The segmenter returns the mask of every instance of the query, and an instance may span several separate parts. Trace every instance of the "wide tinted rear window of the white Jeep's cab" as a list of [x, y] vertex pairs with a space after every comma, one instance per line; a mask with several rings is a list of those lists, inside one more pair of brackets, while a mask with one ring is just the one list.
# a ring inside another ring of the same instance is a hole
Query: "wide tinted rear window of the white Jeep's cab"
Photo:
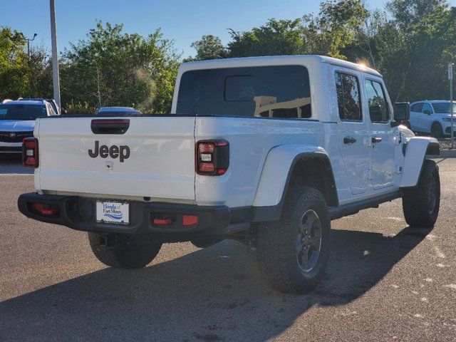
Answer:
[[304, 66], [259, 66], [187, 71], [177, 114], [310, 118], [309, 73]]

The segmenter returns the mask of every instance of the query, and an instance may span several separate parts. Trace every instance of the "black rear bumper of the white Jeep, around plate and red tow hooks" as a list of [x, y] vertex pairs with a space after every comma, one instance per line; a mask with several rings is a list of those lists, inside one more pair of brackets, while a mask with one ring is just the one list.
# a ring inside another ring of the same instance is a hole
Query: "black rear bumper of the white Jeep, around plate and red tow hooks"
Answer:
[[[36, 192], [23, 194], [18, 199], [22, 214], [41, 222], [61, 224], [83, 232], [141, 234], [157, 233], [177, 236], [185, 241], [197, 236], [212, 236], [242, 231], [249, 228], [248, 222], [233, 223], [229, 207], [198, 206], [193, 204], [169, 204], [129, 201], [130, 224], [107, 224], [96, 221], [95, 198], [78, 196], [38, 195]], [[58, 207], [60, 213], [51, 216], [33, 211], [32, 203], [50, 204]], [[174, 217], [169, 225], [153, 223], [156, 215]], [[182, 226], [182, 214], [197, 215], [198, 222], [192, 226]], [[181, 223], [179, 223], [181, 222]]]

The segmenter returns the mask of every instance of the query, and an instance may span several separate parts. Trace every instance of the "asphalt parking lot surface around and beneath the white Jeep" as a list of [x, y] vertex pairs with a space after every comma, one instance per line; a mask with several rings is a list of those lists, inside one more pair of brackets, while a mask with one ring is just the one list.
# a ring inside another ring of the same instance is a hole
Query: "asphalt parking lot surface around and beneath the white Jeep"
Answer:
[[436, 160], [432, 231], [401, 200], [333, 222], [316, 291], [279, 294], [225, 241], [166, 244], [146, 269], [93, 257], [86, 234], [19, 214], [33, 175], [0, 160], [0, 341], [456, 341], [456, 159]]

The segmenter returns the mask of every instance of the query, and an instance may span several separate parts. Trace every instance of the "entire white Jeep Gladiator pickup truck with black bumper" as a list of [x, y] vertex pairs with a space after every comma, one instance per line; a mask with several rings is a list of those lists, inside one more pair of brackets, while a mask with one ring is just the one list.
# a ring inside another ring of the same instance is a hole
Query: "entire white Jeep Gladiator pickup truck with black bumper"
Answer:
[[139, 268], [163, 243], [255, 247], [271, 286], [305, 293], [331, 219], [402, 198], [411, 227], [440, 205], [437, 140], [401, 125], [377, 71], [321, 56], [184, 63], [172, 114], [36, 120], [27, 217], [88, 232], [95, 256]]

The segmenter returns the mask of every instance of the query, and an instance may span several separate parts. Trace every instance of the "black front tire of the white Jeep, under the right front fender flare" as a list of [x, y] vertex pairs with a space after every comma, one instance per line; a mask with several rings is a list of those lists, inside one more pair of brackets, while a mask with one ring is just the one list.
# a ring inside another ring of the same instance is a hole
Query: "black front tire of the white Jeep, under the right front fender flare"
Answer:
[[[435, 201], [432, 201], [432, 182], [435, 184]], [[434, 202], [432, 205], [431, 202]], [[402, 205], [405, 222], [410, 227], [431, 228], [440, 209], [440, 177], [439, 169], [433, 160], [425, 160], [418, 185], [405, 190]]]

